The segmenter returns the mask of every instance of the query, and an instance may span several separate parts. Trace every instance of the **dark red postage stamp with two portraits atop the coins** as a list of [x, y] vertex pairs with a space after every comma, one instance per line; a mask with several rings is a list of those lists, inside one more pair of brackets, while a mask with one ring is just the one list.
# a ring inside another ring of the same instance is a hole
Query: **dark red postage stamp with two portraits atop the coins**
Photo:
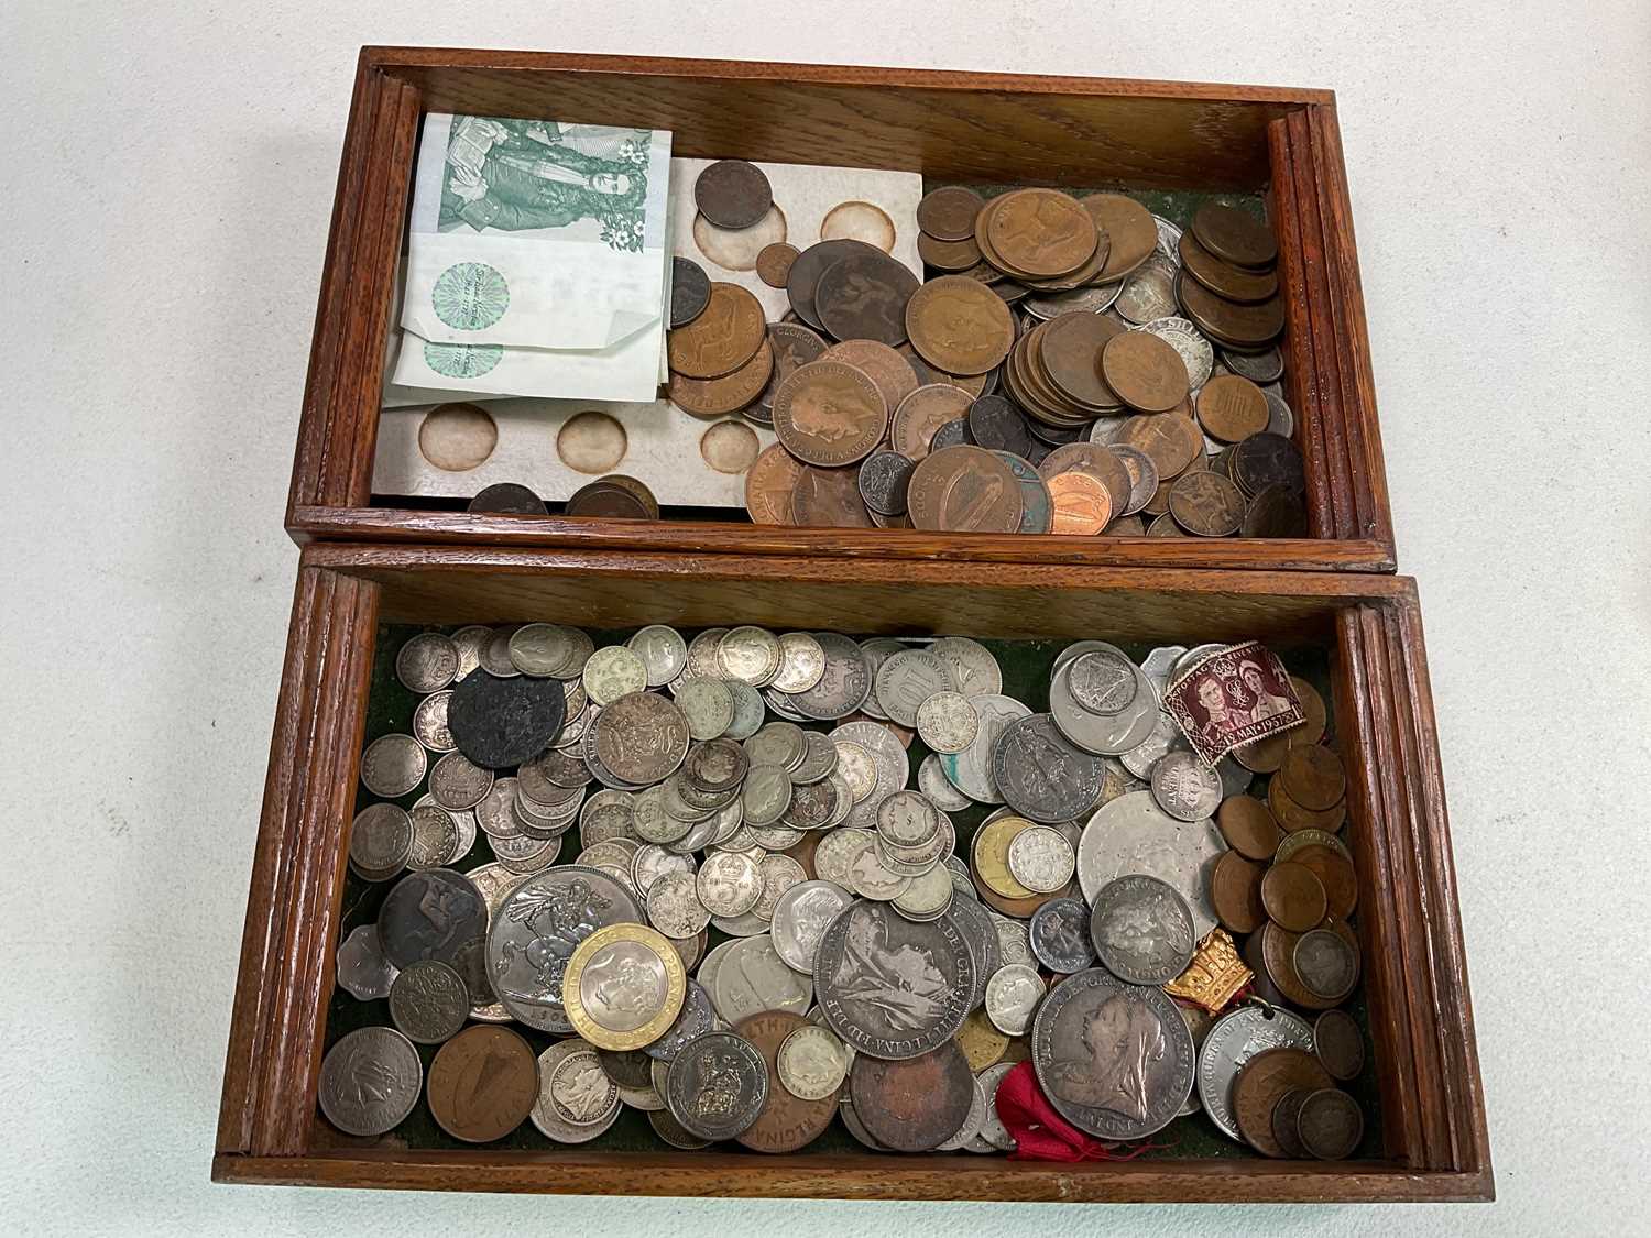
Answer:
[[1207, 766], [1306, 721], [1284, 664], [1260, 640], [1210, 654], [1169, 685], [1164, 708]]

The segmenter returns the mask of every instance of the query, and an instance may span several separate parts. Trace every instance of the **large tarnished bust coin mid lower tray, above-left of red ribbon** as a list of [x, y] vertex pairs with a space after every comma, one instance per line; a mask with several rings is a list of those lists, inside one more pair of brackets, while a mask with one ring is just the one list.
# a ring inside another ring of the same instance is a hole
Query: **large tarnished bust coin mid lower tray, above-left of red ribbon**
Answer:
[[915, 923], [887, 903], [859, 901], [830, 923], [814, 957], [821, 1014], [873, 1058], [913, 1058], [949, 1042], [974, 987], [974, 956], [951, 913]]

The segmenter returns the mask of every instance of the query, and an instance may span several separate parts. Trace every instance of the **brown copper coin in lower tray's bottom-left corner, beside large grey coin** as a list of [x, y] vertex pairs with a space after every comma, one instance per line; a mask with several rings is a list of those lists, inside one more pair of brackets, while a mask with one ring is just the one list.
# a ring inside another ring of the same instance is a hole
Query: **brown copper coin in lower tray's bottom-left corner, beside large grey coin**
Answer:
[[436, 1051], [428, 1096], [431, 1118], [454, 1139], [504, 1139], [533, 1111], [538, 1058], [507, 1027], [467, 1027]]

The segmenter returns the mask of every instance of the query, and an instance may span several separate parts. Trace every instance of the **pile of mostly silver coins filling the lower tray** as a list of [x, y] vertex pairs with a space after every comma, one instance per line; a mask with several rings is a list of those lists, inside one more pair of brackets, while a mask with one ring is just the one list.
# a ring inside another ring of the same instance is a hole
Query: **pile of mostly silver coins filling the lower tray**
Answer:
[[[1030, 1061], [1100, 1139], [1202, 1108], [1270, 1155], [1351, 1155], [1346, 776], [1304, 680], [1308, 725], [1199, 763], [1161, 697], [1220, 649], [1075, 642], [1034, 711], [956, 636], [411, 636], [409, 733], [363, 751], [348, 840], [388, 888], [337, 959], [390, 1025], [332, 1045], [322, 1113], [376, 1136], [423, 1093], [472, 1142], [584, 1142], [631, 1108], [680, 1149], [789, 1152], [835, 1118], [994, 1152]], [[1233, 1005], [1228, 929], [1268, 1000]]]

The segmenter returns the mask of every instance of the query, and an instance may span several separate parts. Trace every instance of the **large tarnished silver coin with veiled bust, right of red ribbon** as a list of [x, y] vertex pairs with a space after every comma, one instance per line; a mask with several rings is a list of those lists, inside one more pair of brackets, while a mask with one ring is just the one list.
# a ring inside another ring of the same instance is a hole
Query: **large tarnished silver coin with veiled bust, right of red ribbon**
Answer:
[[1032, 1023], [1038, 1086], [1068, 1122], [1098, 1139], [1144, 1139], [1192, 1094], [1192, 1032], [1161, 989], [1101, 967], [1057, 984]]

